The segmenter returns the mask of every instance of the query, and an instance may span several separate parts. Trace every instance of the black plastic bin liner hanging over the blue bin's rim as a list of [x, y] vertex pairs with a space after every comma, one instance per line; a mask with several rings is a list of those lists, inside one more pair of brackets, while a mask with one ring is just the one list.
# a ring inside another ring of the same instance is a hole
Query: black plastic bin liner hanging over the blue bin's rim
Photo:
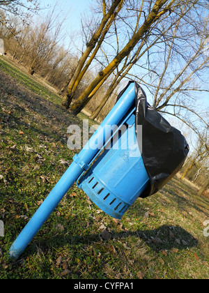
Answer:
[[[127, 84], [129, 87], [130, 81]], [[142, 158], [150, 186], [140, 197], [146, 198], [162, 189], [183, 167], [189, 153], [189, 145], [180, 131], [153, 109], [144, 90], [134, 82], [136, 91], [136, 125], [142, 126]], [[118, 95], [121, 98], [123, 89]], [[137, 129], [137, 128], [136, 128]]]

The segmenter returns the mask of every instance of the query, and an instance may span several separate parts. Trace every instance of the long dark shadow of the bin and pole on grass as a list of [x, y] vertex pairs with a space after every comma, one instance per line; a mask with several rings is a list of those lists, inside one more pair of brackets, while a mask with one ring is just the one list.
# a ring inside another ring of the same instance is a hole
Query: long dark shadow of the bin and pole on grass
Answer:
[[[72, 246], [77, 246], [77, 244], [91, 245], [93, 243], [109, 243], [109, 241], [117, 241], [117, 239], [127, 239], [130, 237], [136, 237], [144, 241], [152, 250], [159, 252], [161, 250], [171, 250], [172, 248], [177, 248], [178, 250], [183, 250], [185, 248], [192, 248], [197, 246], [198, 241], [189, 234], [182, 227], [176, 227], [173, 225], [162, 225], [155, 230], [137, 230], [132, 231], [121, 231], [121, 232], [108, 232], [109, 239], [102, 239], [102, 233], [99, 234], [89, 234], [84, 236], [64, 236], [61, 240], [61, 235], [55, 236], [53, 238], [47, 239], [47, 241], [38, 241], [38, 246], [42, 249], [49, 249], [50, 247], [60, 247], [65, 246], [65, 244], [70, 244]], [[47, 246], [47, 247], [46, 247]]]

